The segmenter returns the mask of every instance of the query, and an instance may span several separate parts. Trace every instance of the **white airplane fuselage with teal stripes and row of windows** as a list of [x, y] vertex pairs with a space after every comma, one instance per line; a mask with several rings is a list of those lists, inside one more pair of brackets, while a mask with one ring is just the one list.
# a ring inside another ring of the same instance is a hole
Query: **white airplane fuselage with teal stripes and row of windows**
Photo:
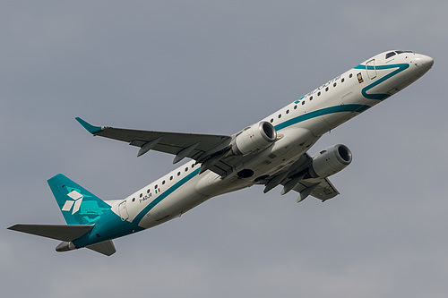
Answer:
[[[383, 99], [418, 80], [432, 65], [425, 55], [402, 53], [386, 59], [376, 55], [363, 64], [342, 73], [306, 96], [265, 117], [279, 140], [238, 165], [232, 174], [221, 178], [210, 170], [199, 175], [195, 161], [179, 166], [141, 190], [134, 192], [112, 210], [122, 220], [149, 228], [178, 217], [211, 197], [254, 185], [262, 175], [274, 175], [294, 163], [325, 132], [375, 106]], [[251, 169], [254, 175], [242, 178], [239, 169]], [[148, 210], [148, 212], [142, 212]]]

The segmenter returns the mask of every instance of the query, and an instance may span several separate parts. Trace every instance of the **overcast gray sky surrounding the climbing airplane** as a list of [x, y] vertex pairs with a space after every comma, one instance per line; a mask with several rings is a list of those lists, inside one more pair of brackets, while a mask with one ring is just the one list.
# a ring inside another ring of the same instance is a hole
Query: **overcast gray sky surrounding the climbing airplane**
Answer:
[[[442, 1], [4, 1], [0, 296], [446, 297]], [[353, 163], [324, 204], [252, 187], [116, 240], [107, 258], [6, 230], [64, 224], [47, 179], [124, 198], [172, 157], [92, 138], [116, 127], [231, 134], [389, 49], [433, 70], [323, 136]]]

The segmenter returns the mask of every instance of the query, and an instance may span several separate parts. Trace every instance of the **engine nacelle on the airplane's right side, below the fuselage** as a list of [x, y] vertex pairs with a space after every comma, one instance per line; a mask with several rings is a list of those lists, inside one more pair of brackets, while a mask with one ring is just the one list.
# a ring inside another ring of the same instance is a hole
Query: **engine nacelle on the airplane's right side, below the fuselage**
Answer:
[[314, 155], [309, 174], [313, 178], [326, 178], [349, 166], [351, 159], [351, 151], [347, 146], [334, 145]]

